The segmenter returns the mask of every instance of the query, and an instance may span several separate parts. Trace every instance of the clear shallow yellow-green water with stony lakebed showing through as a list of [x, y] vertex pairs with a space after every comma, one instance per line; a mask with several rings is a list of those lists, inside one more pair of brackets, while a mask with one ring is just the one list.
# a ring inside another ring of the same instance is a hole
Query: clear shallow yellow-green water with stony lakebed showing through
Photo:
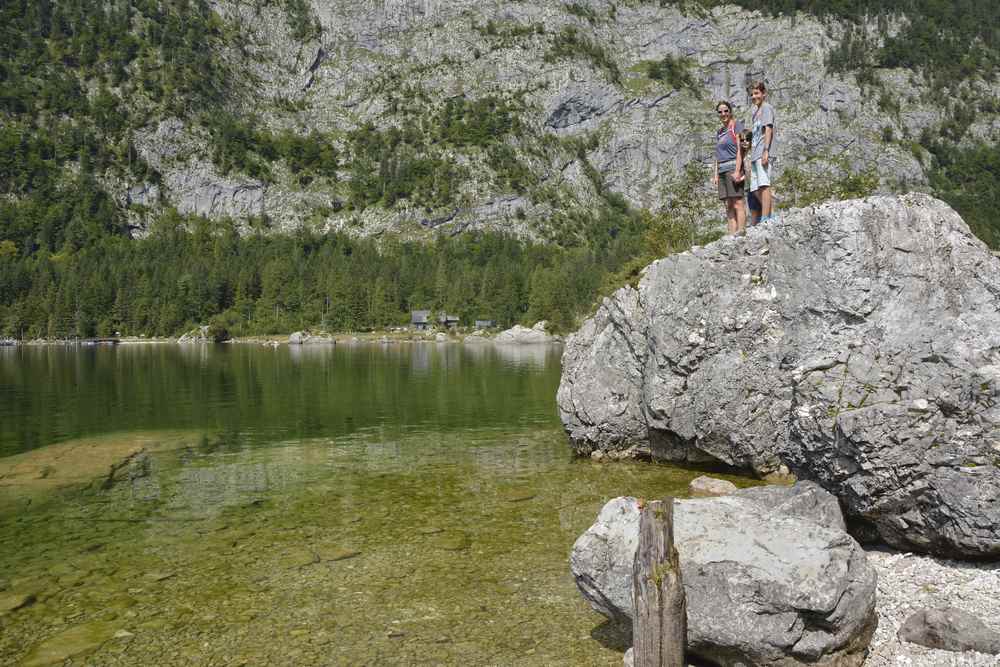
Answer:
[[229, 444], [4, 505], [0, 588], [31, 602], [0, 662], [617, 665], [569, 549], [608, 499], [698, 474], [573, 460], [558, 428]]

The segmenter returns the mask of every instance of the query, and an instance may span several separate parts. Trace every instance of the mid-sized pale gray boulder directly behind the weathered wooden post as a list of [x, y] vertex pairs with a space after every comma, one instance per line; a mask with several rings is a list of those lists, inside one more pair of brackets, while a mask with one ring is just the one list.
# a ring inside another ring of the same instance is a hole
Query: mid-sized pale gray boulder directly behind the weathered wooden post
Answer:
[[[875, 628], [875, 571], [812, 500], [780, 487], [786, 513], [747, 491], [676, 501], [674, 537], [688, 609], [688, 651], [718, 665], [860, 665]], [[842, 525], [842, 523], [841, 523]], [[616, 498], [573, 545], [573, 575], [598, 612], [631, 625], [638, 545], [634, 498]]]

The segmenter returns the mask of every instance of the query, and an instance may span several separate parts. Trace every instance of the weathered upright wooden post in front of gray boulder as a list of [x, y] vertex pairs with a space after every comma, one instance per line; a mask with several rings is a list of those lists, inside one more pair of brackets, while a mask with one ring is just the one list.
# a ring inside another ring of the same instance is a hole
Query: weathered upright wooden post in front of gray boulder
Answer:
[[648, 503], [639, 518], [632, 571], [635, 667], [684, 667], [687, 604], [674, 548], [674, 499]]

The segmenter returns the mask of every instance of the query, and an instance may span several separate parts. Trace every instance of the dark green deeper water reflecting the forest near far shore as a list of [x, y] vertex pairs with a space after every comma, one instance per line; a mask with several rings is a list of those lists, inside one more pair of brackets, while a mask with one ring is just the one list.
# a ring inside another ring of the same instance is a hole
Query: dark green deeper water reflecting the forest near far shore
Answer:
[[4, 348], [0, 456], [89, 434], [238, 432], [248, 446], [555, 424], [556, 345], [354, 343]]

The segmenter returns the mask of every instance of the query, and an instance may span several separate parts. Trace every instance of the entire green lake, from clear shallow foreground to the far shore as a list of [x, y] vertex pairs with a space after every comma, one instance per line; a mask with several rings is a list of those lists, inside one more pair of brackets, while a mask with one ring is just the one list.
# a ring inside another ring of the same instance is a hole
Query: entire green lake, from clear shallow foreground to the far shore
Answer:
[[621, 664], [569, 549], [697, 473], [573, 460], [560, 354], [3, 352], [0, 663]]

